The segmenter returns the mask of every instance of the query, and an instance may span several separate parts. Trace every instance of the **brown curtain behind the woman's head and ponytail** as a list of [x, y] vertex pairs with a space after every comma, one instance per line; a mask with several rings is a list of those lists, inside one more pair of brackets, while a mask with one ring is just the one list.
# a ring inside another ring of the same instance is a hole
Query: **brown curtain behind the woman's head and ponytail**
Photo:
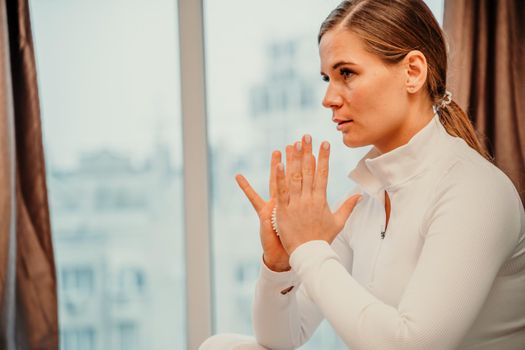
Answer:
[[525, 1], [445, 0], [448, 86], [525, 203]]

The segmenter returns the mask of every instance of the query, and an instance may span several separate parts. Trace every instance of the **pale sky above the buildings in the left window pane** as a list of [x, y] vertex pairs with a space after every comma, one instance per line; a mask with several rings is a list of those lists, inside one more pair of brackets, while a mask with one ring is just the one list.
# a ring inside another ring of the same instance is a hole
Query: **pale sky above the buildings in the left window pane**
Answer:
[[157, 136], [178, 146], [173, 1], [33, 0], [31, 10], [53, 164], [70, 166], [100, 148], [141, 159]]

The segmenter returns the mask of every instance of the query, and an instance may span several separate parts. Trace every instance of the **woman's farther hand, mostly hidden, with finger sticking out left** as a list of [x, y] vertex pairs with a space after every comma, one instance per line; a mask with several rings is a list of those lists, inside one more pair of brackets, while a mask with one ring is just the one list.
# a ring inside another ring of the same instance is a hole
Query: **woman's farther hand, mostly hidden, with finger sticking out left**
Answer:
[[[286, 148], [287, 154], [289, 153], [288, 146]], [[263, 248], [263, 260], [269, 269], [276, 272], [283, 272], [290, 270], [289, 256], [283, 248], [279, 236], [275, 234], [272, 228], [272, 210], [277, 203], [277, 183], [276, 176], [274, 174], [276, 165], [281, 162], [281, 152], [274, 151], [272, 153], [272, 160], [270, 164], [270, 199], [265, 201], [259, 196], [257, 192], [252, 188], [248, 180], [242, 175], [235, 176], [235, 180], [239, 184], [253, 208], [259, 216], [259, 235], [261, 239], [261, 245]]]

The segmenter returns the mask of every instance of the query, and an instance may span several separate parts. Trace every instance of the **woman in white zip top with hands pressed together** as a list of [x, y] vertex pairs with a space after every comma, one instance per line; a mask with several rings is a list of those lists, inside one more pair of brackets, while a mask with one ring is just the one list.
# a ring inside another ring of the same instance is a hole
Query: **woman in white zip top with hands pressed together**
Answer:
[[319, 50], [344, 144], [374, 145], [350, 173], [356, 194], [329, 210], [329, 145], [316, 163], [308, 135], [286, 169], [274, 152], [269, 201], [237, 177], [261, 222], [256, 340], [202, 349], [293, 349], [323, 318], [353, 350], [525, 349], [523, 205], [446, 90], [430, 10], [343, 1]]

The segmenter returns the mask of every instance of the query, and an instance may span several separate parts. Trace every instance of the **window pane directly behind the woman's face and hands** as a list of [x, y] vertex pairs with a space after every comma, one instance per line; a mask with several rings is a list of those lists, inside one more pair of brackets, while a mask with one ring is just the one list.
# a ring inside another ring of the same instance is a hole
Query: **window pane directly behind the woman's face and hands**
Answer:
[[[234, 181], [244, 174], [265, 198], [272, 150], [304, 133], [331, 148], [334, 207], [354, 184], [348, 172], [370, 149], [346, 148], [321, 107], [317, 31], [338, 0], [207, 0], [205, 4], [215, 331], [251, 334], [261, 263], [258, 220]], [[443, 1], [433, 1], [441, 10]], [[441, 7], [440, 7], [441, 6]], [[442, 12], [441, 12], [442, 13]], [[325, 321], [303, 349], [344, 349]]]

